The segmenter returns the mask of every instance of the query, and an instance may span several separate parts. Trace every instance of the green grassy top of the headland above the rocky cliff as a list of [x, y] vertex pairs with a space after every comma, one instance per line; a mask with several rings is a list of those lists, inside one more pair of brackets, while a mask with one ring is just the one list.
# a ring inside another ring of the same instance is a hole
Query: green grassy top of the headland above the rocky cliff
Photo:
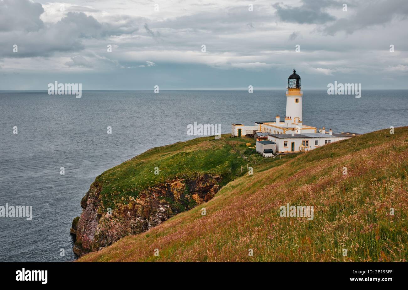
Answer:
[[[115, 208], [117, 204], [128, 202], [129, 197], [137, 197], [142, 190], [151, 186], [175, 178], [194, 177], [198, 173], [222, 175], [221, 185], [224, 185], [246, 174], [249, 162], [254, 166], [262, 163], [262, 168], [266, 168], [271, 162], [280, 164], [289, 159], [278, 162], [268, 159], [264, 165], [263, 157], [255, 149], [248, 148], [246, 143], [255, 146], [254, 139], [232, 138], [226, 134], [221, 139], [202, 137], [152, 148], [106, 170], [95, 179], [102, 186], [102, 206]], [[155, 174], [156, 167], [159, 174]]]

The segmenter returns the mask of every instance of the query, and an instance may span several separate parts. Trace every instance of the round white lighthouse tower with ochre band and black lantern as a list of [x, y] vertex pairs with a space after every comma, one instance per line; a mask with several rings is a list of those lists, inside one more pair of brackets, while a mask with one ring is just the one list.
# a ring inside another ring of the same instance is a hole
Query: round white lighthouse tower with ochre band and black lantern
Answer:
[[300, 75], [293, 70], [288, 78], [286, 92], [286, 123], [302, 124], [302, 91], [300, 90]]

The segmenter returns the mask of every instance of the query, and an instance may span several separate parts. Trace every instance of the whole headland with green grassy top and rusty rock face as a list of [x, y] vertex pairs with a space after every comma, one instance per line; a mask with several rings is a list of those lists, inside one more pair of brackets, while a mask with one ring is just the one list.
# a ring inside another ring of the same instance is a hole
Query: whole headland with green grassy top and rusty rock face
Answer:
[[173, 215], [209, 201], [231, 180], [292, 157], [268, 159], [250, 138], [203, 137], [153, 148], [99, 175], [73, 221], [74, 252], [82, 256], [118, 239], [144, 232]]

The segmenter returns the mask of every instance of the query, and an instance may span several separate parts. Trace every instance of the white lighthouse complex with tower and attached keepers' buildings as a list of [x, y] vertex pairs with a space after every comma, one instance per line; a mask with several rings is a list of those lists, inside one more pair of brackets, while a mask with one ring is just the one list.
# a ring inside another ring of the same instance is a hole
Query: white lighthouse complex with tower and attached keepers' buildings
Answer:
[[326, 132], [325, 127], [317, 130], [316, 127], [304, 125], [302, 117], [303, 93], [300, 86], [300, 76], [295, 70], [293, 70], [293, 74], [288, 78], [287, 89], [286, 115], [284, 120], [281, 121], [279, 115], [277, 115], [274, 121], [255, 122], [254, 126], [234, 123], [231, 126], [231, 135], [237, 137], [255, 135], [257, 152], [264, 155], [264, 157], [271, 156], [270, 148], [265, 149], [266, 154], [258, 150], [258, 148], [265, 146], [262, 143], [258, 145], [258, 142], [266, 140], [265, 135], [267, 135], [267, 141], [276, 144], [274, 146], [274, 153], [277, 154], [310, 151], [319, 146], [358, 135], [351, 132], [333, 133], [332, 129]]

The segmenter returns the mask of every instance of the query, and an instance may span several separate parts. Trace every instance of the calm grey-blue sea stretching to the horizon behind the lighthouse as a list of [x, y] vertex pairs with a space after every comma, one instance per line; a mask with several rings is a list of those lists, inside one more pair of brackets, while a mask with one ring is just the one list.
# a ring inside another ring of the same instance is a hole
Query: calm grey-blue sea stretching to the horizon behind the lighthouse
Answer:
[[[408, 125], [408, 91], [303, 91], [303, 122], [367, 133]], [[149, 148], [186, 141], [187, 125], [253, 125], [285, 116], [276, 91], [0, 91], [0, 206], [33, 206], [33, 219], [0, 217], [0, 261], [72, 261], [72, 219], [95, 177]], [[13, 134], [13, 127], [18, 134]], [[107, 134], [107, 127], [112, 134]], [[65, 175], [60, 175], [60, 168]], [[61, 256], [64, 249], [64, 256]]]

